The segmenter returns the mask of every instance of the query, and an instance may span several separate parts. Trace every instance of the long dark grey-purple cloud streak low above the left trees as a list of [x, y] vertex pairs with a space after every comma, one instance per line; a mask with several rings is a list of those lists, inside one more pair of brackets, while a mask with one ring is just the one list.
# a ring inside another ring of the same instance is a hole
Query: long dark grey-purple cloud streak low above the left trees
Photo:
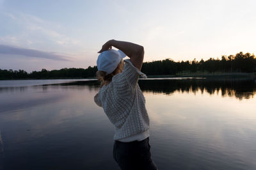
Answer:
[[31, 58], [46, 58], [46, 59], [53, 59], [58, 61], [70, 61], [70, 59], [67, 59], [68, 56], [56, 54], [54, 52], [44, 52], [40, 50], [24, 49], [20, 47], [13, 47], [10, 45], [0, 45], [0, 54], [26, 56]]

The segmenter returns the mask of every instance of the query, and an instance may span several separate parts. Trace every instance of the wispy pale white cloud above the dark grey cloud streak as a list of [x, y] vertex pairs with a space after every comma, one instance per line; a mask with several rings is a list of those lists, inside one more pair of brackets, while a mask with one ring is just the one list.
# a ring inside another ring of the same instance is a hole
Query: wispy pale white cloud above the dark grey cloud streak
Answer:
[[56, 22], [22, 12], [3, 12], [3, 15], [10, 20], [5, 27], [16, 31], [8, 35], [0, 35], [0, 44], [33, 49], [43, 47], [49, 51], [57, 49], [65, 52], [83, 48], [80, 38], [70, 35], [70, 31]]

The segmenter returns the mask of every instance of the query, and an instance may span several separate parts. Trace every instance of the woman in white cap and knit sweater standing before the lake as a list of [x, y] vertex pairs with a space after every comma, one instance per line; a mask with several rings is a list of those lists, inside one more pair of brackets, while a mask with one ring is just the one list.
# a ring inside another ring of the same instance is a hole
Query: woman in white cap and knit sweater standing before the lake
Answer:
[[[113, 50], [113, 47], [119, 50]], [[109, 40], [99, 51], [99, 93], [94, 100], [115, 125], [113, 157], [121, 169], [157, 169], [150, 154], [149, 119], [138, 86], [144, 58], [141, 45]], [[122, 58], [128, 56], [130, 59]], [[125, 64], [124, 64], [125, 62]]]

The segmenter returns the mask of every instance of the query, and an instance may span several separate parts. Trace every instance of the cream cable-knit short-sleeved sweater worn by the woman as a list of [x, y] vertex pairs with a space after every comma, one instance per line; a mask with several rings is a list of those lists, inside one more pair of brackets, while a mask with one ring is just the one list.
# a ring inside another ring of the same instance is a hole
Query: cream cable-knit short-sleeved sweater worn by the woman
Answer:
[[114, 140], [135, 135], [149, 128], [149, 118], [145, 108], [145, 98], [138, 85], [141, 73], [125, 59], [124, 70], [113, 76], [108, 85], [102, 86], [94, 101], [115, 125]]

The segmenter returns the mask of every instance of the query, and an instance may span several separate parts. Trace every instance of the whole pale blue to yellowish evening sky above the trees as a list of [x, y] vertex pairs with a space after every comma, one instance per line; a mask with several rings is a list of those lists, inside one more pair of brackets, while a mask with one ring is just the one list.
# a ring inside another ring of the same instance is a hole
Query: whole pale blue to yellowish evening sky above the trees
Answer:
[[111, 39], [138, 43], [144, 61], [256, 51], [256, 1], [0, 0], [0, 68], [95, 66]]

